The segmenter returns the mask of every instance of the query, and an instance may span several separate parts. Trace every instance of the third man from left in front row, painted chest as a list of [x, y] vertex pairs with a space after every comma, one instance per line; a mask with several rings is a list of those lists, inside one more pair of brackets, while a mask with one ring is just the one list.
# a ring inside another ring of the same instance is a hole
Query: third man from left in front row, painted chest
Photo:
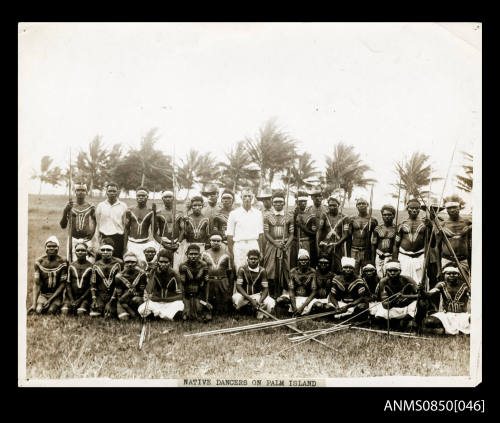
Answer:
[[116, 316], [115, 275], [121, 271], [123, 262], [113, 257], [113, 240], [106, 239], [106, 244], [101, 245], [101, 258], [92, 266], [90, 279], [90, 316], [104, 317]]

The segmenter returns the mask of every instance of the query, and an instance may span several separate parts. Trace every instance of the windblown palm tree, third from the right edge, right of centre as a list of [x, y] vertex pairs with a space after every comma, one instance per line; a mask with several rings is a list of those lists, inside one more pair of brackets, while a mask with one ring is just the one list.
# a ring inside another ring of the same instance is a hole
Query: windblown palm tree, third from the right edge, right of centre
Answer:
[[376, 179], [366, 178], [365, 173], [370, 166], [363, 164], [360, 155], [354, 152], [354, 146], [342, 142], [333, 148], [333, 156], [325, 157], [326, 173], [325, 191], [342, 191], [342, 207], [345, 199], [351, 199], [354, 187], [365, 188], [376, 182]]

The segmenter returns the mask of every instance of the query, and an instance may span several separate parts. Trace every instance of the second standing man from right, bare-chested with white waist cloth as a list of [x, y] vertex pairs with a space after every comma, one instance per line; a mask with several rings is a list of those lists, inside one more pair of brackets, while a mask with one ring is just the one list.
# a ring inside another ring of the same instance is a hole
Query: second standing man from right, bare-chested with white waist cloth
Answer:
[[397, 228], [392, 258], [399, 258], [401, 275], [409, 276], [417, 284], [422, 282], [425, 243], [430, 239], [432, 224], [427, 218], [419, 219], [420, 201], [411, 199], [406, 204], [408, 219]]

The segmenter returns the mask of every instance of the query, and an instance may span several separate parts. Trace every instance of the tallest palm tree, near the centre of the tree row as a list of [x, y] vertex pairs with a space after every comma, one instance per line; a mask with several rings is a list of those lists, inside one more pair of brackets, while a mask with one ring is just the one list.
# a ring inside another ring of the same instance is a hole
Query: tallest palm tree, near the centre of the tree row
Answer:
[[256, 137], [247, 137], [244, 142], [250, 160], [260, 169], [260, 187], [265, 180], [272, 185], [274, 175], [288, 168], [296, 157], [296, 142], [273, 119], [259, 129]]

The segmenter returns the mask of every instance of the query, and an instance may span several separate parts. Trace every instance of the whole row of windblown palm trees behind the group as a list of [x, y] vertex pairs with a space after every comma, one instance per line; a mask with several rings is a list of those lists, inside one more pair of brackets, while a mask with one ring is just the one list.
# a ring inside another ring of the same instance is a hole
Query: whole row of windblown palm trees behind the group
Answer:
[[[90, 195], [94, 190], [103, 191], [106, 182], [111, 180], [127, 194], [138, 186], [155, 191], [172, 188], [172, 155], [156, 147], [159, 138], [157, 129], [153, 128], [144, 135], [138, 148], [125, 149], [123, 144], [107, 147], [97, 135], [88, 149], [79, 151], [73, 158], [72, 178], [85, 182]], [[354, 146], [332, 143], [332, 155], [325, 156], [326, 167], [318, 169], [310, 153], [298, 153], [297, 144], [297, 140], [280, 129], [275, 120], [269, 120], [255, 136], [245, 137], [232, 145], [222, 161], [212, 153], [195, 149], [185, 157], [176, 158], [178, 188], [187, 190], [187, 196], [190, 190], [199, 186], [204, 189], [208, 183], [233, 191], [244, 186], [257, 191], [272, 186], [279, 175], [283, 186], [289, 181], [292, 192], [321, 186], [325, 195], [335, 194], [344, 204], [346, 199], [351, 199], [354, 188], [365, 188], [376, 182], [366, 177], [372, 169], [363, 163]], [[472, 160], [472, 156], [470, 158]], [[395, 186], [404, 190], [405, 196], [426, 194], [425, 187], [431, 178], [428, 160], [429, 156], [414, 153], [409, 160], [396, 163], [399, 182]], [[43, 184], [68, 184], [69, 165], [65, 169], [51, 167], [52, 161], [49, 156], [42, 157], [40, 170], [33, 172], [32, 178], [40, 181], [40, 193]], [[469, 169], [470, 173], [463, 178], [470, 176], [472, 189], [472, 163], [467, 165], [466, 172]], [[459, 181], [461, 186], [468, 186], [468, 180]]]

